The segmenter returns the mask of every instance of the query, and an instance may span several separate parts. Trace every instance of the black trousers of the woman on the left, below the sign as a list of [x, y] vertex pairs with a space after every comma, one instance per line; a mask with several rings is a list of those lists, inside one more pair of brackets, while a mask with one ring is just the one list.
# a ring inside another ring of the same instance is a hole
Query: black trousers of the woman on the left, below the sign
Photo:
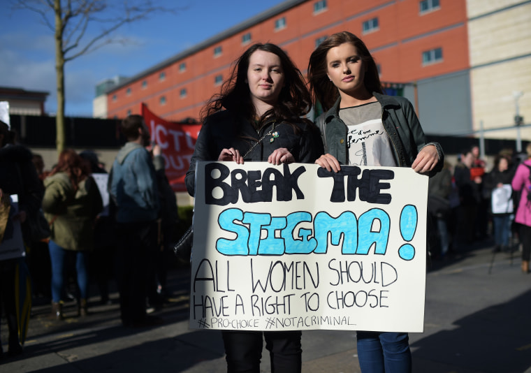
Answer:
[[293, 332], [221, 332], [228, 373], [259, 373], [263, 339], [270, 353], [271, 372], [300, 373], [302, 353], [300, 331]]

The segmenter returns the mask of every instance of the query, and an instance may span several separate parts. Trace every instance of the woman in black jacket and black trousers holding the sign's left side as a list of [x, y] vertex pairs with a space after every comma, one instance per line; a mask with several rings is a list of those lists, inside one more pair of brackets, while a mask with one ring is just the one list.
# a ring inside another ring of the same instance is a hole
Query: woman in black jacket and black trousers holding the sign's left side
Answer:
[[[322, 153], [317, 128], [302, 116], [310, 94], [300, 71], [273, 44], [255, 44], [235, 62], [221, 93], [203, 110], [203, 128], [186, 175], [195, 193], [197, 161], [314, 163]], [[300, 331], [222, 332], [228, 372], [259, 372], [263, 338], [271, 370], [301, 370]]]

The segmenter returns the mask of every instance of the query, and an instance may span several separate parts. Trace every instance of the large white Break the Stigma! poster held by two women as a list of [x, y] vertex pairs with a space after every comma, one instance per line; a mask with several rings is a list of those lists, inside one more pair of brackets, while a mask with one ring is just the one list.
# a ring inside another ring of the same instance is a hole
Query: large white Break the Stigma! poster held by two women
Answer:
[[423, 330], [428, 177], [198, 162], [190, 327]]

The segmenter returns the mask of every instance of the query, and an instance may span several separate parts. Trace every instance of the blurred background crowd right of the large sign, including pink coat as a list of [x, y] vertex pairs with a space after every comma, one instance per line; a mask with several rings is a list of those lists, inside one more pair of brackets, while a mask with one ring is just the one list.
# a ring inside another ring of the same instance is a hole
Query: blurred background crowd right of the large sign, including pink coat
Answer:
[[529, 272], [531, 146], [523, 154], [502, 149], [492, 166], [479, 147], [464, 149], [429, 181], [430, 253], [446, 259], [474, 242], [493, 240], [494, 252], [522, 251]]

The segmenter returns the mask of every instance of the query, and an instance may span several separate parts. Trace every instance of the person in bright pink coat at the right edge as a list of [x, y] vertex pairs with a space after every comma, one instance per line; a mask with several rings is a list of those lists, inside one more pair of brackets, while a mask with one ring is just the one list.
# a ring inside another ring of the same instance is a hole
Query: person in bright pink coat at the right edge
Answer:
[[514, 174], [512, 186], [514, 191], [521, 191], [520, 203], [516, 210], [514, 221], [520, 224], [520, 242], [522, 242], [522, 272], [529, 273], [529, 259], [531, 254], [531, 200], [528, 200], [528, 193], [531, 193], [531, 144], [525, 149], [528, 159], [518, 165]]

